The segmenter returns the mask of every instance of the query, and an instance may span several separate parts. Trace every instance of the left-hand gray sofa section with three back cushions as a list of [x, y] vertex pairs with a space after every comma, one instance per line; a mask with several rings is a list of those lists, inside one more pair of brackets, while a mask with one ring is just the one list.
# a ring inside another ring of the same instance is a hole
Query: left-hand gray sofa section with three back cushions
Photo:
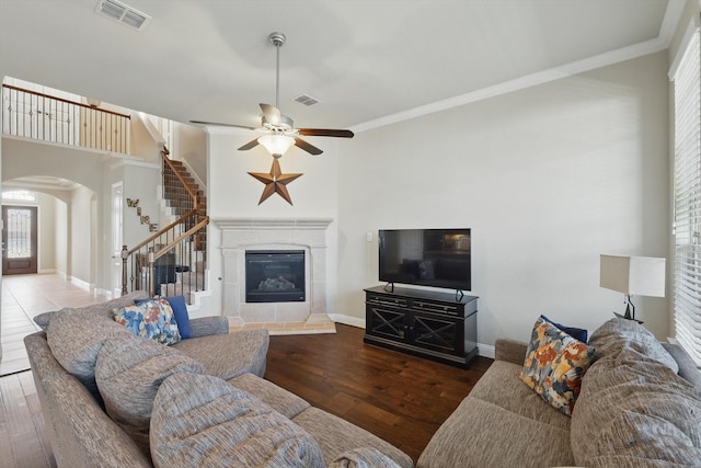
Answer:
[[135, 293], [41, 317], [25, 338], [59, 467], [387, 467], [412, 459], [263, 379], [265, 330], [189, 321], [171, 346], [136, 336], [113, 308]]

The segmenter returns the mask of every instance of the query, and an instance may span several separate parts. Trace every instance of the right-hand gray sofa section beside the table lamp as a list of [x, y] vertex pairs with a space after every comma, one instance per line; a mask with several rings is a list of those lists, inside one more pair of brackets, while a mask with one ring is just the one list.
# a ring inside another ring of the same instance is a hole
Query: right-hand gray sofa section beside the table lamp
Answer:
[[520, 380], [527, 344], [497, 340], [417, 467], [701, 467], [701, 374], [683, 350], [618, 318], [588, 344], [597, 361], [570, 418]]

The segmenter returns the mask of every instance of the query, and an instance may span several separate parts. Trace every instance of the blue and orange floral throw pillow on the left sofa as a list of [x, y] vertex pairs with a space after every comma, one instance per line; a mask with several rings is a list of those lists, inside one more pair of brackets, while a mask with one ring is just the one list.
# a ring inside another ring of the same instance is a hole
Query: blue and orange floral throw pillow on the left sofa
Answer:
[[173, 344], [181, 340], [175, 315], [165, 299], [149, 299], [112, 312], [115, 322], [125, 326], [137, 336], [162, 344]]

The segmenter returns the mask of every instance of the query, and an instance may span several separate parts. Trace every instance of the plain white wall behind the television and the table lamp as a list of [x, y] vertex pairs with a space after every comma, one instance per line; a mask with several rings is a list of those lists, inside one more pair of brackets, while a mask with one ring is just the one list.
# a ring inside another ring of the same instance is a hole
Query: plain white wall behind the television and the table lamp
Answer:
[[[365, 317], [378, 229], [443, 227], [472, 228], [480, 343], [622, 311], [599, 254], [667, 254], [666, 70], [658, 53], [357, 135], [338, 151], [337, 312]], [[665, 338], [667, 300], [634, 303]]]

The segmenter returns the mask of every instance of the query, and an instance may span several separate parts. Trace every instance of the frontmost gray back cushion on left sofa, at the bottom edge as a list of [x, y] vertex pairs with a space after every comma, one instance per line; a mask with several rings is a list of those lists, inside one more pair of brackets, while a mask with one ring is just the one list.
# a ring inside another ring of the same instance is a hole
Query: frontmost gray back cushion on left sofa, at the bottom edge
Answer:
[[153, 403], [157, 467], [321, 467], [317, 442], [257, 398], [205, 375], [163, 381]]

